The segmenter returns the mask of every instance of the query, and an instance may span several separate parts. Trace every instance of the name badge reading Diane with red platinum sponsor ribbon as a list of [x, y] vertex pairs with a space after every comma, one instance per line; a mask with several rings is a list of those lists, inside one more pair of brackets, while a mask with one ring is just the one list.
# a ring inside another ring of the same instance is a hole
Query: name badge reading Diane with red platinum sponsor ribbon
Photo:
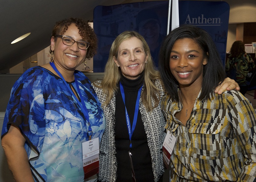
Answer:
[[99, 137], [83, 142], [83, 167], [85, 178], [99, 173]]

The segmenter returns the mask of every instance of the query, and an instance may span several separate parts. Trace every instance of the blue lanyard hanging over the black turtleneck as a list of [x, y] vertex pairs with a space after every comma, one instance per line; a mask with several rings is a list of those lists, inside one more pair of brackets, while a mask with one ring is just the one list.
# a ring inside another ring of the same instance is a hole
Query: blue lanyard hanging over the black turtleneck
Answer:
[[124, 87], [121, 84], [121, 82], [119, 82], [119, 83], [120, 83], [120, 91], [121, 91], [122, 98], [123, 98], [123, 101], [124, 101], [125, 118], [126, 118], [128, 133], [129, 133], [130, 149], [131, 149], [132, 148], [132, 134], [134, 132], [134, 129], [135, 129], [135, 126], [136, 126], [136, 123], [137, 123], [138, 112], [139, 112], [139, 99], [140, 99], [142, 86], [139, 88], [139, 91], [138, 91], [138, 95], [137, 95], [137, 99], [136, 99], [136, 105], [135, 105], [135, 111], [134, 111], [134, 117], [133, 117], [133, 123], [132, 123], [132, 129], [131, 129], [130, 118], [129, 118], [129, 115], [128, 115], [128, 112], [127, 112], [127, 109], [126, 109], [126, 106], [125, 106]]

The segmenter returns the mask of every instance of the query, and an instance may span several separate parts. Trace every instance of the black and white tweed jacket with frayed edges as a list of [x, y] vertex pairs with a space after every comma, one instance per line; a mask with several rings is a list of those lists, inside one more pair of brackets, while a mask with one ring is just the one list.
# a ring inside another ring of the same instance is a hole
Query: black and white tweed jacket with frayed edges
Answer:
[[[101, 81], [96, 81], [95, 84], [100, 85]], [[155, 81], [157, 88], [161, 89], [160, 98], [164, 95], [163, 84], [160, 80]], [[101, 88], [97, 88], [92, 84], [99, 101], [103, 103], [106, 100], [106, 95], [103, 94]], [[142, 87], [142, 91], [144, 85]], [[159, 99], [160, 99], [159, 98]], [[103, 106], [103, 112], [106, 118], [106, 129], [103, 134], [102, 142], [99, 149], [99, 180], [106, 182], [115, 182], [117, 178], [117, 159], [115, 147], [115, 94], [109, 105]], [[147, 135], [148, 146], [150, 149], [152, 170], [154, 181], [157, 182], [164, 173], [162, 145], [166, 133], [164, 132], [164, 115], [161, 112], [160, 102], [152, 112], [147, 112], [142, 104], [142, 99], [139, 101], [139, 111], [141, 113], [142, 122]]]

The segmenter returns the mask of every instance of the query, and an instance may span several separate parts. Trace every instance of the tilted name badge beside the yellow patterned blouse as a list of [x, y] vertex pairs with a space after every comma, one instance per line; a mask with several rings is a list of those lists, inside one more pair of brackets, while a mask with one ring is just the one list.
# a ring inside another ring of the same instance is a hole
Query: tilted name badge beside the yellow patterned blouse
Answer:
[[171, 132], [167, 131], [167, 134], [164, 139], [163, 143], [163, 156], [165, 162], [169, 165], [170, 159], [171, 159], [171, 153], [174, 149], [175, 143], [176, 143], [176, 137], [172, 135]]

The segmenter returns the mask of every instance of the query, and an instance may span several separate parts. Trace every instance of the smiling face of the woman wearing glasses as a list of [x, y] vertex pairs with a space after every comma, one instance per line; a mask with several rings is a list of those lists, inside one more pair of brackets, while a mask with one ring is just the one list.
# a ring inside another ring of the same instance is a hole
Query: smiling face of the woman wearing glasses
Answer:
[[[63, 35], [69, 36], [75, 41], [86, 41], [82, 39], [75, 24], [71, 24]], [[54, 51], [56, 67], [61, 70], [75, 70], [85, 60], [87, 53], [87, 50], [79, 49], [77, 43], [67, 46], [63, 44], [62, 38], [57, 38], [55, 41], [54, 37], [51, 39], [51, 50]]]

